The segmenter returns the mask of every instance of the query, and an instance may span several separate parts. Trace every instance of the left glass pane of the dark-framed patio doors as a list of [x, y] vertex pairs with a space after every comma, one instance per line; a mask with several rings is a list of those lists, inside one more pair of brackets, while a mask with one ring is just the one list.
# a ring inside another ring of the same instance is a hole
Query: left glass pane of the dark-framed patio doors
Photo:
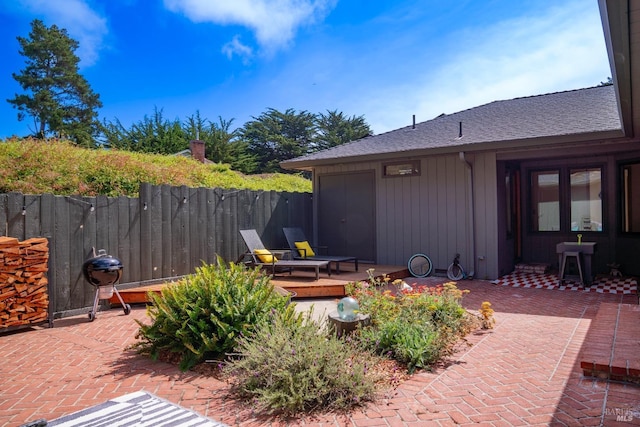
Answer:
[[560, 173], [532, 172], [531, 204], [534, 231], [560, 230]]

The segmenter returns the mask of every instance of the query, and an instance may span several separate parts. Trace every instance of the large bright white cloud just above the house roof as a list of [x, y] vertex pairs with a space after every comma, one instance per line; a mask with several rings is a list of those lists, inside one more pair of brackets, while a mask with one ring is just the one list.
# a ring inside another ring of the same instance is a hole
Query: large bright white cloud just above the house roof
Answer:
[[495, 100], [597, 85], [611, 75], [601, 25], [597, 6], [578, 1], [460, 33], [457, 54], [416, 72], [410, 84], [373, 91], [353, 110], [364, 111], [381, 133], [410, 125], [412, 114], [425, 121]]

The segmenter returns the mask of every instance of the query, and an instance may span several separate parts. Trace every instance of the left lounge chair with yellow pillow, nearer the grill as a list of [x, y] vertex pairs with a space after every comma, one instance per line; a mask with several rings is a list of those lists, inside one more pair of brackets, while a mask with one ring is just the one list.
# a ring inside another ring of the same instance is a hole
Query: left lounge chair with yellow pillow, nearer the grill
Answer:
[[254, 229], [240, 230], [240, 234], [249, 249], [241, 256], [241, 259], [248, 260], [248, 263], [251, 265], [259, 265], [270, 269], [274, 276], [277, 270], [285, 270], [291, 273], [294, 269], [312, 268], [315, 270], [316, 280], [318, 280], [320, 278], [321, 267], [326, 267], [327, 274], [331, 276], [329, 261], [296, 260], [291, 257], [291, 251], [289, 249], [268, 250]]

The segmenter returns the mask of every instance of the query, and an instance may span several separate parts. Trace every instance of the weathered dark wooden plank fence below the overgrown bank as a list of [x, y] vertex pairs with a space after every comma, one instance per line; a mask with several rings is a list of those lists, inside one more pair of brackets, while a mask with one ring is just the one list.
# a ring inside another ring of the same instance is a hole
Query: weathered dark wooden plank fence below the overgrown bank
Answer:
[[142, 184], [139, 198], [0, 194], [0, 235], [49, 239], [55, 317], [93, 304], [82, 264], [94, 250], [122, 261], [128, 287], [190, 274], [217, 256], [237, 260], [246, 250], [240, 229], [255, 228], [266, 246], [282, 248], [282, 227], [310, 235], [311, 221], [310, 193]]

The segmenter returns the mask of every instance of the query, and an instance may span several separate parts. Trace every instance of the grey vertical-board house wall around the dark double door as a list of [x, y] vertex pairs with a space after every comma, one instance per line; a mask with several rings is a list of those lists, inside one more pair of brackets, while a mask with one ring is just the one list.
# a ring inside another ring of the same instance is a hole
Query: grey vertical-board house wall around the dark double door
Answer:
[[[475, 270], [479, 278], [496, 278], [495, 155], [467, 155], [470, 166], [458, 153], [419, 160], [418, 176], [384, 177], [382, 161], [317, 167], [314, 188], [322, 174], [373, 169], [378, 264], [406, 265], [411, 255], [425, 253], [436, 273], [445, 272], [454, 255], [460, 253], [467, 271]], [[475, 194], [471, 192], [472, 181]], [[315, 209], [317, 213], [317, 206]]]

